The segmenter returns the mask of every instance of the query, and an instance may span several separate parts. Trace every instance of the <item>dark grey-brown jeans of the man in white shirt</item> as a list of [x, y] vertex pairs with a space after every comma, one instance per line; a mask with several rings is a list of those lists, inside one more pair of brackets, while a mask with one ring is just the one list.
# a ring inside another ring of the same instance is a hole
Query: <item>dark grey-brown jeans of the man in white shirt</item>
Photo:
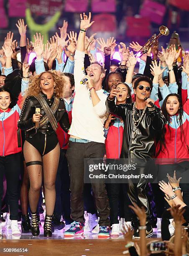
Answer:
[[[77, 143], [69, 141], [67, 160], [70, 174], [71, 216], [75, 221], [84, 222], [84, 158], [103, 158], [105, 144], [97, 142]], [[109, 226], [110, 207], [104, 183], [92, 183], [95, 204], [99, 212], [99, 225]]]

